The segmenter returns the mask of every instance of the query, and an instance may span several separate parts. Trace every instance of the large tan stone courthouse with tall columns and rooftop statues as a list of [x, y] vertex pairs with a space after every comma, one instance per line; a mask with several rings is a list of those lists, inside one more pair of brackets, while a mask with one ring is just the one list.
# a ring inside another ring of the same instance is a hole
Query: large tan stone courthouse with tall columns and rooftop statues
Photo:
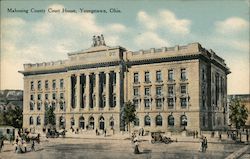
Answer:
[[24, 64], [23, 127], [42, 130], [54, 107], [56, 127], [125, 130], [123, 107], [132, 101], [133, 129], [217, 130], [227, 123], [224, 60], [199, 43], [128, 51], [93, 37], [68, 59]]

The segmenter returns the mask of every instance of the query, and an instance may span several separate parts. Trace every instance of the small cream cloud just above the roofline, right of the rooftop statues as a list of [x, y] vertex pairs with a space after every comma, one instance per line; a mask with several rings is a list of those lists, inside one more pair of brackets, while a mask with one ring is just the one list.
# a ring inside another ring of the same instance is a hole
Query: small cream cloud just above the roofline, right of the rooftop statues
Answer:
[[169, 46], [169, 43], [166, 40], [160, 38], [154, 32], [142, 33], [135, 37], [134, 42], [140, 48]]

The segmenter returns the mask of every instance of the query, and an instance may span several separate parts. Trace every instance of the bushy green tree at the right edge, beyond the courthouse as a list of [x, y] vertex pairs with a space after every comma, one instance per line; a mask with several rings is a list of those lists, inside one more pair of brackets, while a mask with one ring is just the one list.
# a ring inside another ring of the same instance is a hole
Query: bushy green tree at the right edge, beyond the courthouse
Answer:
[[231, 122], [236, 126], [236, 129], [240, 129], [245, 125], [248, 110], [245, 105], [242, 105], [238, 99], [232, 99], [229, 105]]

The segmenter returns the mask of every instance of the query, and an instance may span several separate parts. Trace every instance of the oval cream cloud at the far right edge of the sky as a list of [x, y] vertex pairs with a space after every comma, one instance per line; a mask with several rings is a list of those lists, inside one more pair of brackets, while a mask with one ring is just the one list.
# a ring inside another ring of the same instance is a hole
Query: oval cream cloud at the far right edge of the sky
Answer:
[[249, 29], [249, 22], [239, 18], [230, 17], [215, 23], [216, 31], [221, 34], [237, 34]]

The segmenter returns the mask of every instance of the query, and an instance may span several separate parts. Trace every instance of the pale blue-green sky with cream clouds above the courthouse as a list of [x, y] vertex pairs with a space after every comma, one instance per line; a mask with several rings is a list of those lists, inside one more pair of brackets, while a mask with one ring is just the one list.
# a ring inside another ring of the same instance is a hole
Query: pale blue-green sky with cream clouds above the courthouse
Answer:
[[[108, 46], [130, 51], [199, 42], [225, 59], [232, 72], [228, 94], [249, 94], [249, 4], [249, 0], [1, 1], [0, 90], [23, 89], [18, 71], [24, 63], [67, 59], [67, 53], [89, 48], [92, 36], [103, 34]], [[76, 12], [62, 13], [63, 8]], [[18, 12], [11, 11], [15, 9]], [[86, 13], [89, 10], [106, 13]]]

